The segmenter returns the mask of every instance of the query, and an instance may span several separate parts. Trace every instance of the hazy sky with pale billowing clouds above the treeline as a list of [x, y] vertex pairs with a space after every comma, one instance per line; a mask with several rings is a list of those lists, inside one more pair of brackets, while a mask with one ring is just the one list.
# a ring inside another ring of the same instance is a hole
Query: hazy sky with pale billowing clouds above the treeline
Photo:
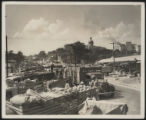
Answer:
[[8, 50], [38, 54], [80, 41], [140, 44], [139, 5], [6, 5]]

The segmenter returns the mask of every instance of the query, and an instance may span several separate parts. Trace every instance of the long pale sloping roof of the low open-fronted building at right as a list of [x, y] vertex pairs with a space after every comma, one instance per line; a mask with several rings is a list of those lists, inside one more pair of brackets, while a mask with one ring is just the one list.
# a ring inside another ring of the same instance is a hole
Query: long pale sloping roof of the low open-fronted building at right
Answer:
[[[115, 58], [115, 62], [126, 62], [126, 61], [140, 61], [140, 55], [133, 55], [133, 56], [125, 56], [125, 57], [117, 57]], [[97, 61], [97, 63], [110, 63], [113, 62], [112, 58], [102, 59], [100, 61]]]

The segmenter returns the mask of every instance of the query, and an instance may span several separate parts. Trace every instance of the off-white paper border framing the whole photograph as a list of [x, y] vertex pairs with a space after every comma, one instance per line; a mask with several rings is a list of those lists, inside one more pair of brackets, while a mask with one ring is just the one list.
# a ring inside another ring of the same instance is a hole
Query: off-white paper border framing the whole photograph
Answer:
[[[6, 115], [6, 63], [5, 63], [5, 52], [6, 52], [6, 5], [141, 5], [141, 114], [140, 115]], [[143, 2], [2, 2], [2, 117], [3, 118], [122, 118], [122, 119], [137, 119], [144, 118], [145, 116], [145, 4]]]

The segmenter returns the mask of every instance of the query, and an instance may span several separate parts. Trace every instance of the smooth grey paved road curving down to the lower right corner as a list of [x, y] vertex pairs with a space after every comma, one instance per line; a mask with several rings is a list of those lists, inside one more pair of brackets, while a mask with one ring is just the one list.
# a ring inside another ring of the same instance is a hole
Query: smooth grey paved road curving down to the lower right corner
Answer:
[[118, 91], [111, 102], [123, 102], [128, 105], [128, 115], [140, 114], [140, 91], [129, 89], [126, 87], [115, 86]]

